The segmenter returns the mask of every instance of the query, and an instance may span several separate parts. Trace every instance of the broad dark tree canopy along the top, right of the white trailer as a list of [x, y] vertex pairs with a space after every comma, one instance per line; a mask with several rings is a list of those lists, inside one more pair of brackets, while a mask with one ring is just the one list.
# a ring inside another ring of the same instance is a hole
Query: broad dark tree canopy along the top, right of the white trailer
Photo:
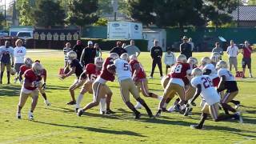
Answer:
[[[212, 21], [216, 26], [231, 22], [237, 0], [129, 0], [131, 18], [145, 25], [205, 26]], [[223, 13], [226, 11], [226, 13]]]

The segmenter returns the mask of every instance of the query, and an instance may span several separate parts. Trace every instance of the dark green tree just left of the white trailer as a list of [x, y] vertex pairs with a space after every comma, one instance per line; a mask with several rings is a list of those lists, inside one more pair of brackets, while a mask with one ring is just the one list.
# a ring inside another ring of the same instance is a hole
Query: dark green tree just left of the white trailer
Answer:
[[98, 0], [73, 0], [69, 9], [66, 22], [71, 25], [86, 26], [98, 20]]

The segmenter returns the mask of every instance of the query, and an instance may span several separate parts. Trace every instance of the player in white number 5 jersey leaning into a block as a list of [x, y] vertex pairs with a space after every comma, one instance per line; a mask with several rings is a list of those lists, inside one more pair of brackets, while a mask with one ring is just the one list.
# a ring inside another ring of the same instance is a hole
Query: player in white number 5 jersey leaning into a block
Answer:
[[126, 103], [126, 106], [130, 108], [130, 110], [134, 111], [135, 118], [140, 118], [141, 114], [134, 108], [134, 105], [130, 102], [130, 93], [134, 96], [136, 101], [140, 102], [142, 106], [145, 107], [147, 114], [150, 118], [153, 117], [153, 114], [150, 108], [146, 105], [146, 102], [140, 98], [137, 87], [132, 80], [132, 74], [130, 69], [129, 54], [124, 53], [120, 56], [120, 58], [114, 60], [114, 64], [109, 66], [108, 69], [111, 71], [115, 71], [118, 74], [118, 82], [120, 85], [120, 92], [122, 96], [122, 100]]

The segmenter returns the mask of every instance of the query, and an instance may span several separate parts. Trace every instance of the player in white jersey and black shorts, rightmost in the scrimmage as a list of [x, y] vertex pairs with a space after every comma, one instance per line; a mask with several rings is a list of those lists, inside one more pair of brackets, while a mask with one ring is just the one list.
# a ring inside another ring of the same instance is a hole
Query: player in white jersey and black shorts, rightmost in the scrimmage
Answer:
[[228, 105], [227, 103], [233, 102], [235, 105], [240, 104], [239, 101], [234, 101], [234, 97], [238, 94], [238, 86], [237, 82], [234, 79], [234, 75], [230, 73], [227, 69], [227, 64], [225, 61], [220, 61], [217, 63], [216, 68], [218, 69], [218, 77], [221, 78], [221, 82], [218, 85], [218, 92], [226, 90], [226, 94], [221, 100], [222, 107], [225, 110], [226, 114], [229, 114], [229, 110], [232, 112], [236, 112], [233, 107]]

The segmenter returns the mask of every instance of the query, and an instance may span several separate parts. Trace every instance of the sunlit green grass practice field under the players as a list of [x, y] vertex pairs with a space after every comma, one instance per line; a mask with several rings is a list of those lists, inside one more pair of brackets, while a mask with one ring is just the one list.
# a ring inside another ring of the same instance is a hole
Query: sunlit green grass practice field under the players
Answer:
[[[194, 53], [197, 58], [209, 56], [210, 53]], [[152, 119], [141, 109], [142, 118], [134, 120], [131, 111], [122, 102], [118, 82], [108, 82], [114, 92], [112, 110], [114, 115], [99, 114], [98, 107], [88, 110], [85, 115], [78, 117], [74, 107], [67, 106], [70, 101], [68, 87], [74, 82], [74, 77], [64, 81], [58, 79], [58, 69], [63, 66], [62, 51], [28, 52], [28, 56], [40, 59], [48, 70], [46, 94], [52, 104], [46, 107], [42, 97], [34, 110], [34, 121], [27, 119], [30, 109], [30, 99], [22, 109], [22, 119], [16, 119], [20, 85], [0, 86], [0, 143], [256, 143], [256, 78], [238, 79], [239, 94], [236, 97], [242, 102], [244, 123], [236, 121], [214, 122], [210, 118], [205, 122], [206, 130], [192, 130], [190, 124], [195, 124], [200, 118], [200, 107], [194, 107], [194, 115], [184, 117], [177, 113], [163, 113], [161, 118]], [[106, 58], [106, 53], [104, 53]], [[239, 70], [241, 69], [239, 55]], [[256, 58], [255, 54], [253, 60]], [[226, 59], [226, 57], [224, 58]], [[150, 74], [151, 60], [149, 53], [139, 57], [146, 73]], [[256, 76], [256, 61], [253, 61], [253, 74]], [[154, 79], [149, 80], [150, 90], [162, 95], [160, 75], [156, 68]], [[248, 73], [246, 73], [248, 76]], [[13, 79], [13, 78], [12, 78]], [[78, 90], [75, 91], [77, 97]], [[158, 100], [145, 98], [154, 114], [157, 111]], [[134, 99], [131, 98], [135, 103]], [[200, 98], [197, 100], [197, 104]], [[82, 105], [92, 101], [92, 94], [85, 94]], [[172, 102], [171, 102], [172, 103]], [[222, 112], [222, 111], [221, 111]]]

